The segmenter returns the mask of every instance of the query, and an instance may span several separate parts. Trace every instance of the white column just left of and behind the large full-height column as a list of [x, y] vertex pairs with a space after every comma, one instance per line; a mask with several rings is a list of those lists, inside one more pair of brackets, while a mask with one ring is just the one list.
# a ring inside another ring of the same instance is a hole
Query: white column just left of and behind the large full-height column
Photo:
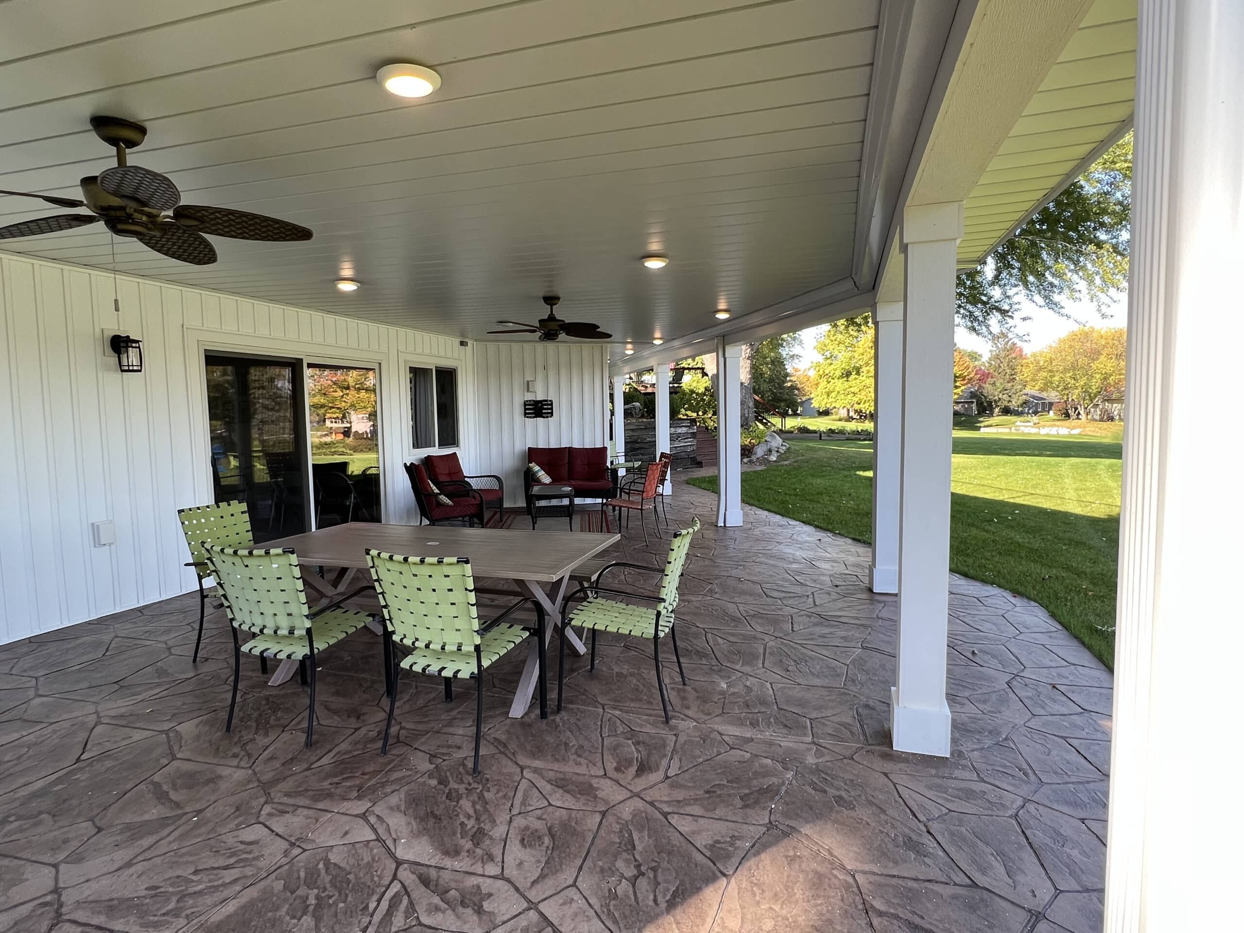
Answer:
[[868, 586], [898, 592], [898, 465], [903, 423], [903, 302], [872, 310], [872, 560]]

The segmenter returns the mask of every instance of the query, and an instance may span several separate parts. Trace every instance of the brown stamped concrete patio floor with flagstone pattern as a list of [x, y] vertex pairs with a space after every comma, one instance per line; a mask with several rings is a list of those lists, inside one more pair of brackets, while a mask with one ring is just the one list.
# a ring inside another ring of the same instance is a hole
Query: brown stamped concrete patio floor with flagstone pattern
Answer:
[[478, 779], [473, 693], [437, 680], [406, 682], [381, 758], [366, 631], [321, 658], [311, 750], [297, 678], [253, 659], [224, 733], [231, 641], [213, 613], [192, 667], [195, 596], [0, 647], [0, 931], [1101, 929], [1111, 677], [1087, 651], [953, 578], [954, 754], [896, 754], [865, 547], [748, 509], [693, 555], [673, 725], [649, 646], [608, 637], [561, 715], [508, 719], [516, 652]]

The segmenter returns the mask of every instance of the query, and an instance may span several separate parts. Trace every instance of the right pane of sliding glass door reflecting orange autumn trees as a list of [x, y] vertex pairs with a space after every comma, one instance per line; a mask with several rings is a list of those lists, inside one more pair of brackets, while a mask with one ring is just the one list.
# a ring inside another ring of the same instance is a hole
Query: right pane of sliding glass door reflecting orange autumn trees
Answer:
[[316, 527], [381, 520], [376, 369], [307, 366]]

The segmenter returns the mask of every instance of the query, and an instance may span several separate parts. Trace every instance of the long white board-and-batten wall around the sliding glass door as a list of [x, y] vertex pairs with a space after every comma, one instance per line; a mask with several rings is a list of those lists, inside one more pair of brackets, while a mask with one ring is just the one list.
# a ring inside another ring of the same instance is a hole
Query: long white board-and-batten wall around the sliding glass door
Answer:
[[[417, 520], [408, 362], [459, 368], [460, 454], [491, 471], [474, 345], [133, 276], [117, 291], [119, 320], [111, 272], [0, 254], [0, 643], [195, 588], [177, 510], [213, 498], [207, 350], [376, 366], [387, 521]], [[142, 340], [141, 374], [104, 355], [104, 328]], [[109, 519], [116, 544], [93, 546]]]

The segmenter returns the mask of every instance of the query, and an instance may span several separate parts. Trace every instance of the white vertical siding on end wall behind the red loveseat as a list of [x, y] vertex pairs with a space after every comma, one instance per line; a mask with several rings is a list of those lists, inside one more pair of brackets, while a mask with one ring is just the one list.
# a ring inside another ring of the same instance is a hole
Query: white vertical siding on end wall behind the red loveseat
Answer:
[[[522, 505], [529, 447], [608, 443], [607, 348], [592, 343], [476, 343], [476, 462], [505, 480], [505, 504]], [[527, 379], [535, 392], [527, 392]], [[524, 418], [522, 402], [551, 398], [552, 418]]]

